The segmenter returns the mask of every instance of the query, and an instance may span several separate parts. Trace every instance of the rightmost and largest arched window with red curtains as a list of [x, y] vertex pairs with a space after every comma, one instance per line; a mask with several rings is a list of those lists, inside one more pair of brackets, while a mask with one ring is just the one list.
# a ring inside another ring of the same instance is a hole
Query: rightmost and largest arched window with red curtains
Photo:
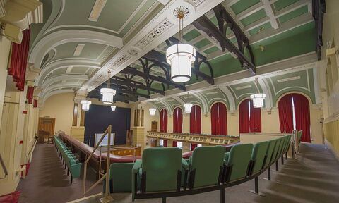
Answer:
[[281, 133], [302, 130], [302, 142], [311, 142], [309, 100], [302, 94], [286, 94], [279, 100], [279, 122]]

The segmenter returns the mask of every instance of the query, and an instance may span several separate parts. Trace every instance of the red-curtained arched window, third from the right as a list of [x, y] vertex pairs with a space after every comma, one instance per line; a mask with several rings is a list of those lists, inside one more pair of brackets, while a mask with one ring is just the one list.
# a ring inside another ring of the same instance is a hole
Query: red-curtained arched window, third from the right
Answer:
[[212, 135], [227, 135], [227, 108], [221, 102], [215, 103], [210, 109]]

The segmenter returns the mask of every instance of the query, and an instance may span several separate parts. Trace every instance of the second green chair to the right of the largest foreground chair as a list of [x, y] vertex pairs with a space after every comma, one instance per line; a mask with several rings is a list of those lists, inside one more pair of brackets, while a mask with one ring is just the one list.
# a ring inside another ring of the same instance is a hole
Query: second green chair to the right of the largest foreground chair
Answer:
[[225, 182], [246, 178], [249, 173], [252, 149], [253, 144], [240, 144], [225, 153]]

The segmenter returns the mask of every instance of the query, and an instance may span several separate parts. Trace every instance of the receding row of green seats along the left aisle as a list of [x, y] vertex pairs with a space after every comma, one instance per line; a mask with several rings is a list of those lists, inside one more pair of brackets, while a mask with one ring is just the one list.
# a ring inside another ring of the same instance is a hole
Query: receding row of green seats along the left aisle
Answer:
[[71, 183], [73, 178], [79, 178], [81, 174], [81, 163], [76, 158], [76, 156], [71, 152], [64, 142], [62, 142], [59, 137], [54, 136], [54, 144], [57, 147], [60, 158], [65, 164], [65, 169], [67, 167], [67, 175], [71, 173]]

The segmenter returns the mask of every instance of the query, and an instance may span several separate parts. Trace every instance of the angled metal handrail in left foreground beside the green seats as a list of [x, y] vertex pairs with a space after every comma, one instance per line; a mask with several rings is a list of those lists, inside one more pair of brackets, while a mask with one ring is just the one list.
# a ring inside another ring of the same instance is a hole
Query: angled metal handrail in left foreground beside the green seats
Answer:
[[110, 147], [111, 147], [111, 133], [112, 133], [112, 125], [108, 125], [108, 127], [105, 130], [105, 133], [101, 136], [99, 142], [97, 142], [96, 146], [94, 147], [93, 151], [90, 153], [90, 155], [88, 156], [88, 158], [85, 161], [85, 166], [84, 166], [84, 171], [83, 171], [83, 195], [85, 195], [87, 192], [89, 192], [90, 190], [92, 190], [95, 186], [97, 186], [99, 183], [102, 182], [102, 180], [104, 180], [106, 178], [106, 190], [105, 190], [105, 199], [103, 199], [103, 201], [105, 202], [109, 202], [110, 200], [110, 196], [109, 196], [109, 156], [107, 156], [106, 159], [106, 173], [104, 176], [102, 176], [102, 178], [100, 178], [100, 180], [97, 180], [97, 182], [95, 182], [88, 190], [86, 190], [86, 179], [87, 179], [87, 164], [88, 161], [90, 161], [90, 158], [92, 158], [94, 152], [97, 150], [97, 147], [99, 147], [99, 145], [101, 144], [102, 140], [104, 140], [104, 137], [106, 135], [108, 135], [108, 139], [107, 139], [107, 152], [110, 151]]

